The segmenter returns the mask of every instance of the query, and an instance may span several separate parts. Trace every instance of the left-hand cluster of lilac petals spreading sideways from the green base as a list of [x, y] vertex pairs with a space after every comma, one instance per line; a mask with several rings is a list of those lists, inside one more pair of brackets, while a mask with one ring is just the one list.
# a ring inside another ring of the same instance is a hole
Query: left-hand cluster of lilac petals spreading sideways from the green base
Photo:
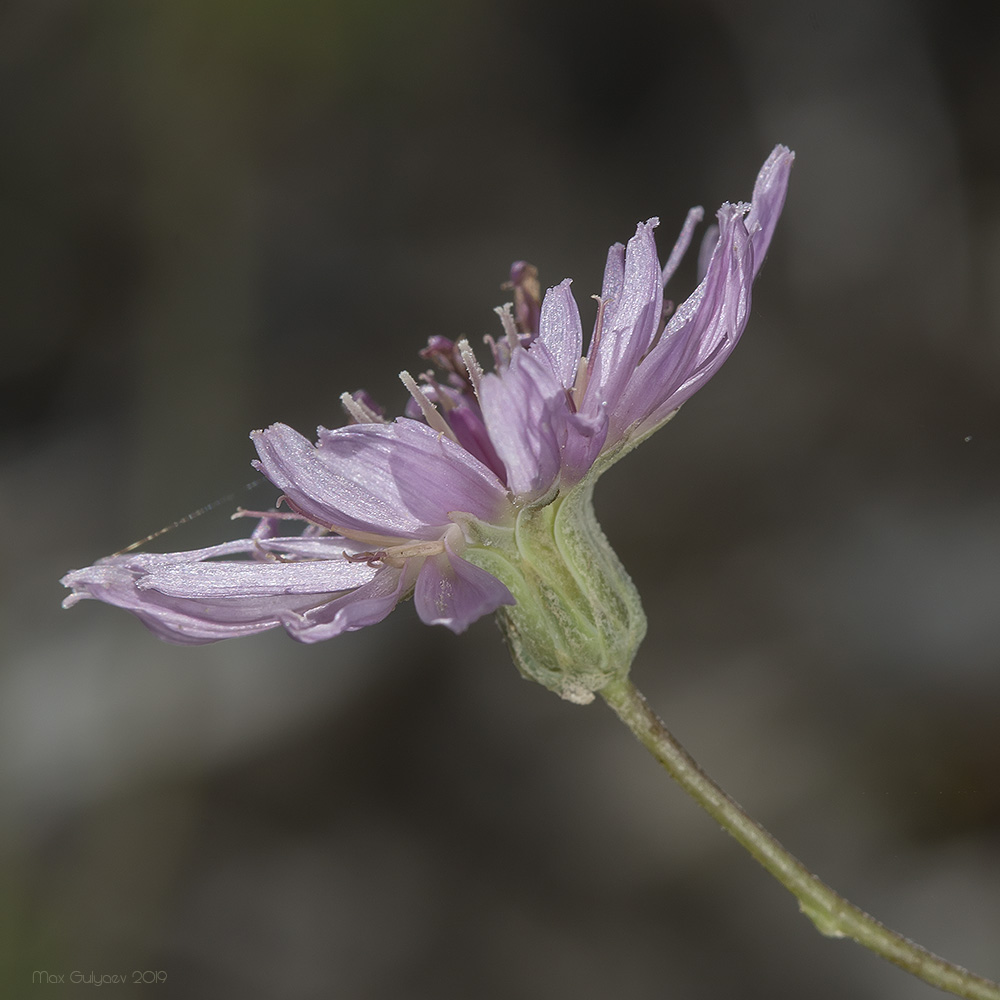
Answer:
[[[513, 602], [462, 558], [465, 536], [451, 518], [502, 519], [507, 491], [447, 437], [406, 418], [320, 428], [315, 446], [283, 424], [252, 437], [254, 464], [311, 526], [308, 535], [273, 537], [272, 516], [248, 539], [112, 556], [63, 578], [73, 588], [65, 604], [96, 597], [165, 639], [201, 643], [276, 625], [304, 642], [329, 639], [374, 625], [410, 593], [423, 621], [460, 632]], [[230, 556], [250, 558], [214, 561]]]

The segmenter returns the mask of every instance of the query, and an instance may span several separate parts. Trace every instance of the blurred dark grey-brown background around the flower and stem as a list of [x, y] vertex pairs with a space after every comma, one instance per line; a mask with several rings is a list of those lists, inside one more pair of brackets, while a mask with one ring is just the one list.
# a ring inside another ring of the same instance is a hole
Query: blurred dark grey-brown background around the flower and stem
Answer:
[[[0, 12], [0, 914], [116, 997], [939, 994], [821, 938], [486, 620], [200, 648], [59, 577], [390, 411], [511, 261], [748, 198], [746, 336], [598, 490], [634, 677], [816, 872], [1000, 977], [1000, 28], [902, 0], [10, 0]], [[689, 261], [672, 288], [693, 287]], [[243, 533], [240, 494], [151, 544]], [[147, 976], [148, 979], [148, 976]], [[50, 987], [55, 994], [58, 987]]]

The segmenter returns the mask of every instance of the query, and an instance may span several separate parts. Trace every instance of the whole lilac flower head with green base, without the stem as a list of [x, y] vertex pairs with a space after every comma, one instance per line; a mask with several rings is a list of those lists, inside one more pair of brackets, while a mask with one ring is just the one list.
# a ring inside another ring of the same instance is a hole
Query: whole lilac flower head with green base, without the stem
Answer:
[[[676, 309], [664, 285], [687, 251], [692, 209], [665, 266], [640, 223], [608, 252], [586, 353], [570, 280], [539, 301], [537, 271], [511, 270], [504, 336], [484, 373], [467, 341], [432, 337], [439, 374], [402, 372], [406, 414], [364, 393], [351, 423], [314, 443], [283, 424], [255, 431], [254, 465], [289, 512], [246, 539], [191, 552], [122, 553], [63, 578], [65, 606], [96, 598], [161, 637], [202, 643], [282, 625], [305, 642], [381, 621], [412, 594], [419, 617], [461, 632], [494, 611], [518, 666], [587, 701], [627, 671], [645, 632], [638, 595], [593, 515], [597, 477], [718, 371], [784, 204], [794, 154], [774, 149], [749, 204], [718, 211], [705, 273]], [[282, 524], [304, 525], [297, 536]]]

